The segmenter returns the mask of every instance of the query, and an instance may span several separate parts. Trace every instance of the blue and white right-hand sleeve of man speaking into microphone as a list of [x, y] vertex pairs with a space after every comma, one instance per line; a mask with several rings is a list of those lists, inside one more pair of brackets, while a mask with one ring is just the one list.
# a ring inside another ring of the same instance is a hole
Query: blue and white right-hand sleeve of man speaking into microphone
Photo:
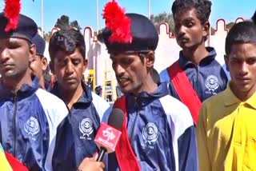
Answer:
[[198, 151], [190, 110], [174, 97], [160, 99], [172, 133], [175, 170], [198, 171]]

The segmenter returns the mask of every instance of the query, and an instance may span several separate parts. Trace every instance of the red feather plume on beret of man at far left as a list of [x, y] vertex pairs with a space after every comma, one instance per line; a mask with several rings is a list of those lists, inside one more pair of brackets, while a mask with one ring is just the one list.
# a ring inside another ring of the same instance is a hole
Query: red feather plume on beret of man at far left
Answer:
[[6, 0], [5, 2], [5, 16], [8, 18], [8, 23], [5, 31], [15, 30], [18, 25], [18, 14], [21, 11], [20, 0]]

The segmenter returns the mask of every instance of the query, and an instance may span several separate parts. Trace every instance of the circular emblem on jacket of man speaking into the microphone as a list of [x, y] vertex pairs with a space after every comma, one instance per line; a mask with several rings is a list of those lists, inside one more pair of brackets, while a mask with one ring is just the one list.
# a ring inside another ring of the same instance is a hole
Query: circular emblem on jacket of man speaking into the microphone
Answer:
[[158, 127], [154, 123], [149, 122], [146, 124], [146, 127], [143, 128], [142, 137], [151, 145], [152, 142], [158, 139]]

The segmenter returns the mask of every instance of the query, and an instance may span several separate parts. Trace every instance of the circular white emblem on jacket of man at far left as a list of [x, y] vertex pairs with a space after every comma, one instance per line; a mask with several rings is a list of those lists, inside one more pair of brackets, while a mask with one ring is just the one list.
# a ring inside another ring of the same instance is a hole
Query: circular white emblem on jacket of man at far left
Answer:
[[30, 117], [24, 124], [24, 129], [28, 135], [36, 135], [40, 131], [39, 123], [37, 118]]

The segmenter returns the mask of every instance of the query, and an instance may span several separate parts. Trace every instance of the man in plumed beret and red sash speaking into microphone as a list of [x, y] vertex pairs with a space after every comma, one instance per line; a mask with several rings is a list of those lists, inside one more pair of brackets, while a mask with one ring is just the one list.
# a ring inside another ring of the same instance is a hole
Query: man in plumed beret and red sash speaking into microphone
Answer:
[[106, 44], [118, 85], [114, 102], [125, 120], [109, 170], [198, 170], [195, 129], [189, 110], [153, 79], [158, 32], [141, 14], [123, 14], [117, 2], [103, 10]]

